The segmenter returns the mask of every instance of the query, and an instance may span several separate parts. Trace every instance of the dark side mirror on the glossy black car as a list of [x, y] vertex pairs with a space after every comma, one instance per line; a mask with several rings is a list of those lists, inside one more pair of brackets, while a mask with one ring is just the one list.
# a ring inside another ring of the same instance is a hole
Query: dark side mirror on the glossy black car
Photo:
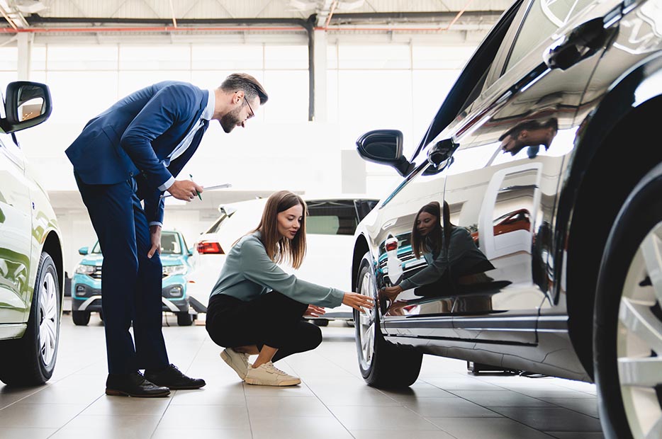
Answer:
[[410, 173], [412, 165], [403, 156], [403, 133], [399, 130], [374, 130], [357, 140], [359, 155], [366, 161], [393, 166], [400, 176]]

